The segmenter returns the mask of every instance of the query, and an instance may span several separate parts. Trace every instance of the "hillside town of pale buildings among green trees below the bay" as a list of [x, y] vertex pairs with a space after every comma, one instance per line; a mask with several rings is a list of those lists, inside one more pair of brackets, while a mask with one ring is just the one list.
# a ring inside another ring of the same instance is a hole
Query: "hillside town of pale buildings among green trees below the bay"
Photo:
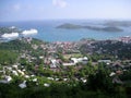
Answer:
[[111, 84], [129, 85], [130, 50], [131, 37], [66, 42], [21, 37], [0, 44], [0, 84], [21, 89], [53, 84], [75, 87], [88, 84], [90, 75], [104, 70]]

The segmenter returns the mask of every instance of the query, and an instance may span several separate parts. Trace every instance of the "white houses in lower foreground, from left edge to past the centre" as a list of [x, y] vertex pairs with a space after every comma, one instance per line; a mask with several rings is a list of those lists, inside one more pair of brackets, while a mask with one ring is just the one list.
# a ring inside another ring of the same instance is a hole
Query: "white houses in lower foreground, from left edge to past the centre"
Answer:
[[[21, 81], [17, 84], [17, 86], [20, 88], [26, 88], [28, 86], [27, 82], [33, 82], [36, 85], [39, 85], [39, 78], [34, 74], [28, 75], [26, 70], [22, 65], [3, 66], [0, 70], [0, 77], [1, 77], [0, 83], [2, 83], [2, 84], [10, 84], [11, 82], [14, 81], [14, 78], [13, 78], [14, 76], [20, 76], [20, 77], [24, 78], [23, 81]], [[59, 77], [45, 77], [45, 78], [48, 79], [48, 81], [55, 81], [55, 82], [61, 81], [61, 78], [59, 78]], [[63, 82], [69, 82], [70, 78], [63, 77], [62, 81]], [[86, 79], [84, 77], [81, 77], [78, 81], [82, 81], [83, 83], [86, 83]], [[43, 86], [49, 87], [50, 83], [48, 83], [48, 82], [45, 83], [44, 82]]]

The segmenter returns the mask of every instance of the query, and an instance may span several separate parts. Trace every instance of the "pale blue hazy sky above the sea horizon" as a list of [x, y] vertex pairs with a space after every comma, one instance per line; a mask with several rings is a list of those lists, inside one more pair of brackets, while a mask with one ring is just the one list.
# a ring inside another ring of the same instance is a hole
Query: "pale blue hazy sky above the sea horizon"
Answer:
[[131, 0], [0, 0], [0, 22], [131, 20]]

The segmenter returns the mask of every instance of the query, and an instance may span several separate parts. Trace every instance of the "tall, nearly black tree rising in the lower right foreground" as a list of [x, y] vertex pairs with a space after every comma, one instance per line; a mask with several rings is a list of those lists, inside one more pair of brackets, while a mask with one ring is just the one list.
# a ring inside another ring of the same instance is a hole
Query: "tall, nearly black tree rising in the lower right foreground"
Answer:
[[112, 91], [114, 84], [111, 77], [109, 77], [109, 70], [100, 64], [97, 73], [88, 76], [87, 86], [94, 90], [100, 89], [108, 93]]

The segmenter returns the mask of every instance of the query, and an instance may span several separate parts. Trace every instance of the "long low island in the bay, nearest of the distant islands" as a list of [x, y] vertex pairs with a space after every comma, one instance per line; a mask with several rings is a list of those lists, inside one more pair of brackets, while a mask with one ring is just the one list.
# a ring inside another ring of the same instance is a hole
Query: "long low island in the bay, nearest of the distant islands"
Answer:
[[98, 27], [98, 26], [83, 26], [83, 25], [76, 25], [76, 24], [70, 24], [66, 23], [62, 25], [57, 26], [57, 28], [63, 28], [63, 29], [80, 29], [80, 28], [86, 28], [86, 29], [92, 29], [92, 30], [102, 30], [102, 32], [123, 32], [122, 28], [117, 27], [117, 26], [104, 26], [104, 27]]

